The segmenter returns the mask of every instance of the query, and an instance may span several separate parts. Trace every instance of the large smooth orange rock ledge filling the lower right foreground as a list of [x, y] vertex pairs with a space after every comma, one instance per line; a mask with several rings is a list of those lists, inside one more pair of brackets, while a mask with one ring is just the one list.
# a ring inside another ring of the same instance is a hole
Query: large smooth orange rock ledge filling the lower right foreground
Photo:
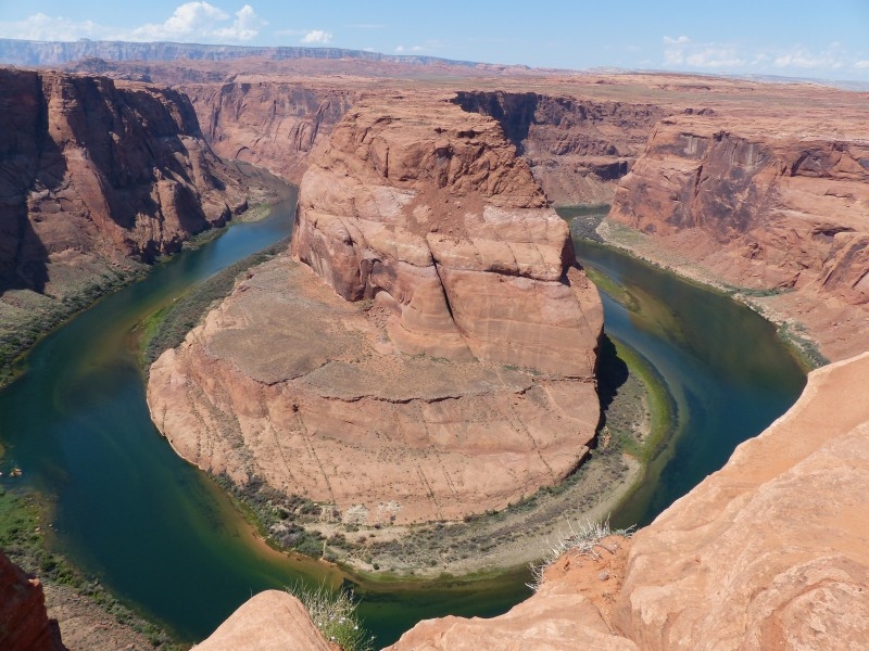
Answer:
[[423, 622], [392, 648], [867, 647], [867, 382], [869, 354], [814, 371], [788, 413], [629, 545], [563, 558], [502, 617]]

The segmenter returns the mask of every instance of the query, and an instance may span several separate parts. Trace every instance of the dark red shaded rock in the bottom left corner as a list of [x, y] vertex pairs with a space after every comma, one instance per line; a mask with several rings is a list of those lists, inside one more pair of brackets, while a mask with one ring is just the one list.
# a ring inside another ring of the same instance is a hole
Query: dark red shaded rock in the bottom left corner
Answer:
[[0, 649], [65, 651], [58, 622], [46, 614], [39, 579], [27, 575], [0, 552]]

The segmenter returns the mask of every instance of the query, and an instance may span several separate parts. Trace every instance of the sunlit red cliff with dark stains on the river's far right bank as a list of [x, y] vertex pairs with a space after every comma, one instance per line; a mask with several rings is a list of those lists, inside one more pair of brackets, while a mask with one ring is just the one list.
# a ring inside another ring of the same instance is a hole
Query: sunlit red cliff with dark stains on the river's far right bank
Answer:
[[869, 332], [844, 323], [869, 304], [865, 138], [763, 117], [668, 118], [621, 179], [610, 217], [733, 285], [795, 290], [773, 309], [807, 322], [830, 357], [865, 348]]

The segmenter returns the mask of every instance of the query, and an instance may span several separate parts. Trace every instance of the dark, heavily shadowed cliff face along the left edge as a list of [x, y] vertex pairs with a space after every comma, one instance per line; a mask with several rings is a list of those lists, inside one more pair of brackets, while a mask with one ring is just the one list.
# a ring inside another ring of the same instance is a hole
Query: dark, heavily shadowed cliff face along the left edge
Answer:
[[150, 261], [243, 203], [179, 92], [0, 69], [0, 282], [43, 291], [50, 263]]

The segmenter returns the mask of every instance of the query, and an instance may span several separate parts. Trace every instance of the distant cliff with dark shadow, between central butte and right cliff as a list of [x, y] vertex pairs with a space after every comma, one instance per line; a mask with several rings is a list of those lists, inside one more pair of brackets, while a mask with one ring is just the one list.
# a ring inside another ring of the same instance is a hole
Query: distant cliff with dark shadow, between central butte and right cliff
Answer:
[[455, 102], [495, 118], [556, 204], [610, 204], [616, 181], [672, 108], [537, 92], [462, 91]]

